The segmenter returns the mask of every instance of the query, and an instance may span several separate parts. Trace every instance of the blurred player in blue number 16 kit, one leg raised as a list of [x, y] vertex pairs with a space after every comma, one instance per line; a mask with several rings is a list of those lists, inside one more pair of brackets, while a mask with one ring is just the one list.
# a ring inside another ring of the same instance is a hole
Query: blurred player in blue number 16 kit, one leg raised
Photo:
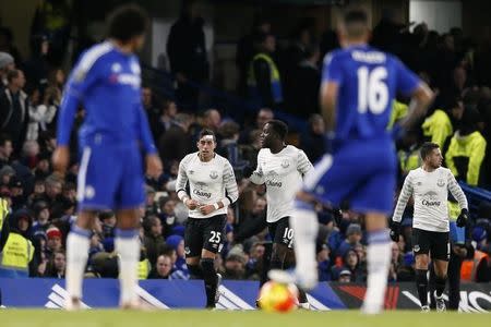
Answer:
[[[366, 215], [369, 276], [362, 311], [376, 314], [383, 308], [392, 246], [386, 229], [396, 180], [395, 149], [386, 130], [392, 104], [397, 93], [412, 96], [402, 123], [407, 128], [424, 113], [432, 94], [399, 60], [369, 47], [368, 38], [367, 14], [350, 11], [340, 26], [344, 49], [324, 59], [321, 106], [332, 149], [306, 175], [297, 194], [291, 217], [297, 269], [289, 279], [303, 289], [316, 284], [315, 202], [338, 206], [348, 201], [352, 210]], [[288, 280], [280, 271], [271, 277]]]

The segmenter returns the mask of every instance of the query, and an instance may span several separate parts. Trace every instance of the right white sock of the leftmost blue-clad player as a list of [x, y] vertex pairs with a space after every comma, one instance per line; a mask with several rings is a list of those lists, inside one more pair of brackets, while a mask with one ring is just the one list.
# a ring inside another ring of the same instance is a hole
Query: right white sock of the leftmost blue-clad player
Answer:
[[140, 240], [137, 230], [116, 231], [116, 252], [119, 254], [120, 304], [135, 304], [137, 301], [137, 266]]

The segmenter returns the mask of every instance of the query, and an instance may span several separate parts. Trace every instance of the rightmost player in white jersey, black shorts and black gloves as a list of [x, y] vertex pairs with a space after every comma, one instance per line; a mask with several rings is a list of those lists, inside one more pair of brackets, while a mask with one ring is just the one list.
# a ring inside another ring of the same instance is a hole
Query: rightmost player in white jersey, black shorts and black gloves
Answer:
[[442, 166], [442, 153], [435, 143], [427, 142], [421, 146], [423, 165], [411, 170], [404, 181], [397, 206], [392, 218], [391, 238], [398, 242], [400, 220], [409, 197], [415, 201], [412, 217], [412, 251], [416, 257], [416, 284], [421, 311], [429, 311], [428, 306], [428, 265], [433, 261], [435, 271], [436, 311], [446, 310], [443, 291], [446, 283], [446, 271], [450, 258], [448, 241], [448, 191], [460, 206], [457, 226], [467, 222], [467, 198], [450, 169]]

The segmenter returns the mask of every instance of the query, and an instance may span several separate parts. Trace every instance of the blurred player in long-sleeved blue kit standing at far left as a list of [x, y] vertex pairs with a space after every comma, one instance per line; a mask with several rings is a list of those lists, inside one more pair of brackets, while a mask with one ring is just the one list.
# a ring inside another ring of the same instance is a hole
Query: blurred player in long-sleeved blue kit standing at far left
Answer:
[[159, 175], [147, 118], [141, 102], [141, 70], [135, 51], [144, 43], [147, 15], [134, 5], [120, 7], [108, 22], [108, 40], [82, 55], [73, 69], [58, 119], [55, 168], [64, 173], [69, 141], [79, 106], [86, 110], [79, 132], [82, 159], [79, 173], [79, 217], [67, 239], [68, 310], [81, 306], [82, 279], [96, 210], [115, 209], [118, 219], [116, 251], [120, 261], [123, 308], [139, 306], [140, 258], [137, 208], [144, 203], [141, 147], [149, 175]]

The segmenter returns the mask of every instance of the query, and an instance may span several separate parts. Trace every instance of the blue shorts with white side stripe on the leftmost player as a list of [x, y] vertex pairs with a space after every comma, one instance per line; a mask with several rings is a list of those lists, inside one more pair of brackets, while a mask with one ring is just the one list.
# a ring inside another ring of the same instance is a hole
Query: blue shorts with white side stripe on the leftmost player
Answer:
[[91, 141], [81, 150], [80, 209], [128, 209], [144, 203], [142, 155], [135, 144]]

